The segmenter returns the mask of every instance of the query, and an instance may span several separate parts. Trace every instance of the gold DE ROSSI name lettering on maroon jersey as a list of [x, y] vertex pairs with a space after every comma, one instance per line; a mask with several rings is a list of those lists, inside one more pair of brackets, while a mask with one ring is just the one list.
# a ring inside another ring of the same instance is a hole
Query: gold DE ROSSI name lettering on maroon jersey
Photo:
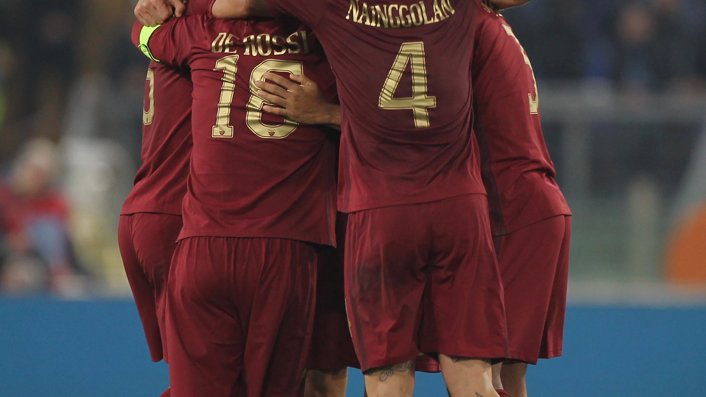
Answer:
[[309, 37], [306, 30], [299, 30], [287, 37], [270, 35], [261, 33], [260, 35], [249, 35], [240, 39], [236, 35], [228, 32], [220, 32], [211, 44], [211, 52], [220, 53], [227, 52], [229, 54], [237, 54], [240, 44], [245, 47], [243, 55], [251, 56], [270, 56], [285, 54], [299, 54], [304, 51], [304, 54], [309, 54]]

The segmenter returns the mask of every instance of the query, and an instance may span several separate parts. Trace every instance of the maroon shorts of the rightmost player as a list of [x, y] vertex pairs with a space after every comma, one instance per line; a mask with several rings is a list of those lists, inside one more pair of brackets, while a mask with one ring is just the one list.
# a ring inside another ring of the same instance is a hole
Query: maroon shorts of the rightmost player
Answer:
[[561, 355], [570, 237], [565, 215], [496, 236], [510, 360], [537, 364]]

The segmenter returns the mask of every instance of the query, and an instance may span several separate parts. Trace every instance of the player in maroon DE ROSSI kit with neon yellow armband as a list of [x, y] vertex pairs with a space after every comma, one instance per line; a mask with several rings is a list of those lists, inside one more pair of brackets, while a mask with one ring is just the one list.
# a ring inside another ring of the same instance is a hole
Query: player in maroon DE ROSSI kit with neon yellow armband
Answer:
[[175, 18], [136, 25], [152, 59], [188, 67], [193, 150], [172, 261], [172, 393], [290, 396], [300, 388], [321, 245], [335, 245], [335, 143], [321, 128], [263, 114], [266, 73], [334, 79], [297, 20]]

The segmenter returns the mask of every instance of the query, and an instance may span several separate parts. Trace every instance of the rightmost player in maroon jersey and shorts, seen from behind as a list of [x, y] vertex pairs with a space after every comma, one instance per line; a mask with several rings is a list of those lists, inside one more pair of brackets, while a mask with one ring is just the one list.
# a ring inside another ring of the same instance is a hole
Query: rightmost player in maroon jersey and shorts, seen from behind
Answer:
[[477, 24], [472, 69], [475, 133], [505, 288], [510, 396], [526, 396], [527, 363], [561, 355], [570, 210], [554, 181], [532, 63], [500, 13]]

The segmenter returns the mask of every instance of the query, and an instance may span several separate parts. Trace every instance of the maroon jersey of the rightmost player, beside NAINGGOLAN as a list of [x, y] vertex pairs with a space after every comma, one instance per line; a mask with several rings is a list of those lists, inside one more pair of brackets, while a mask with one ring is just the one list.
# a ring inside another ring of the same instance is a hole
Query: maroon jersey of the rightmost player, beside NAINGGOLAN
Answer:
[[570, 215], [554, 182], [532, 64], [505, 18], [484, 6], [473, 59], [475, 132], [493, 234], [555, 215]]

